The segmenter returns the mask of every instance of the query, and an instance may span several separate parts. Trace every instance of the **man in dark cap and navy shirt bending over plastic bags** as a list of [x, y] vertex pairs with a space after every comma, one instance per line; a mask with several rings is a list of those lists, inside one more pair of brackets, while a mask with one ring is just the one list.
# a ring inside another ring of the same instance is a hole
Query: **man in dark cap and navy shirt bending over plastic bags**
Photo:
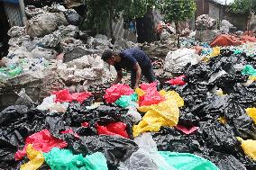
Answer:
[[149, 83], [155, 81], [151, 60], [140, 49], [126, 49], [123, 52], [116, 54], [112, 50], [107, 49], [102, 55], [102, 59], [109, 65], [114, 66], [117, 76], [113, 85], [118, 84], [123, 77], [122, 68], [132, 71], [131, 85], [132, 88], [137, 88], [140, 85], [142, 75], [147, 78]]

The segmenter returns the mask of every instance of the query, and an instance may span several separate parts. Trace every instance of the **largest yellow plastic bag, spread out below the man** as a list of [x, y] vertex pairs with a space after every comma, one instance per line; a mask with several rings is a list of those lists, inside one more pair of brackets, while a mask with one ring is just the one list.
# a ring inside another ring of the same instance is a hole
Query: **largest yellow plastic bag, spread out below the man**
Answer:
[[178, 103], [173, 99], [151, 106], [142, 121], [133, 126], [133, 136], [137, 137], [146, 131], [159, 131], [161, 126], [176, 126], [178, 117]]

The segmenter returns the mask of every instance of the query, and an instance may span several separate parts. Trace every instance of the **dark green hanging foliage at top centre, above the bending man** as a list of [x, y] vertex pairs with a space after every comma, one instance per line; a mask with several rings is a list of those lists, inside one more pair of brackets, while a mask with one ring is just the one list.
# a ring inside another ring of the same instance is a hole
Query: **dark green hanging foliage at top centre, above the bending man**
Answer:
[[85, 0], [87, 29], [104, 31], [109, 18], [116, 21], [120, 14], [136, 18], [143, 16], [155, 0]]

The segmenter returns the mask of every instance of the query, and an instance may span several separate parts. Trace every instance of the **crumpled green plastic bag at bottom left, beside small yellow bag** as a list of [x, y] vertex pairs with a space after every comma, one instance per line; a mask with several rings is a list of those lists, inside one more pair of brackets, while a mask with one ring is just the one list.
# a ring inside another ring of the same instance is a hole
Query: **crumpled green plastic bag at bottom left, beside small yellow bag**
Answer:
[[100, 152], [83, 157], [68, 149], [52, 148], [43, 157], [51, 170], [107, 170], [105, 156]]

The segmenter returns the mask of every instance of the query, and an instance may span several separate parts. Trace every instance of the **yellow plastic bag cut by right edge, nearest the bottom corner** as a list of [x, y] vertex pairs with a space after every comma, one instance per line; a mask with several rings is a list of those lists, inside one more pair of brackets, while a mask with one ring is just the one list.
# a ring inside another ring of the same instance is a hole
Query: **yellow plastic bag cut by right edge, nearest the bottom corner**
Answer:
[[237, 137], [237, 139], [241, 142], [244, 153], [256, 161], [256, 140], [243, 140], [240, 137]]

